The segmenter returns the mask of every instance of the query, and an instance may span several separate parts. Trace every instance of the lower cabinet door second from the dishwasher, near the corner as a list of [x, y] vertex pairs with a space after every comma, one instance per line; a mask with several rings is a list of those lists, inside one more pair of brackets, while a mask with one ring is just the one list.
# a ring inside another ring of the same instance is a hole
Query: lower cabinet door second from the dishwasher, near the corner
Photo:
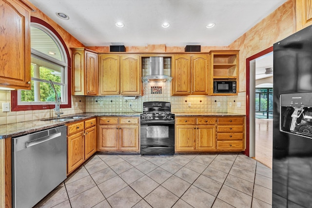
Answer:
[[85, 130], [84, 136], [84, 158], [87, 159], [97, 151], [96, 127]]

